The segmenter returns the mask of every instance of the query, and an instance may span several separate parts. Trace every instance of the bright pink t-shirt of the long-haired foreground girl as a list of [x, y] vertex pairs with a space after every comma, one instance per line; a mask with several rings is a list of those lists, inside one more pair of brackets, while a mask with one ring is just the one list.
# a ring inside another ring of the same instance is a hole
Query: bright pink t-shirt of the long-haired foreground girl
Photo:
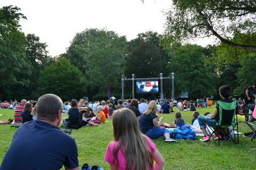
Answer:
[[[144, 136], [147, 139], [148, 148], [149, 148], [150, 152], [153, 154], [156, 150], [156, 145], [146, 135], [144, 135]], [[118, 141], [110, 142], [109, 145], [107, 146], [107, 150], [106, 150], [106, 154], [105, 154], [104, 159], [109, 164], [116, 164], [117, 165], [117, 161], [115, 160], [115, 157], [113, 155], [113, 150], [114, 150], [116, 144], [118, 144]], [[122, 148], [122, 149], [124, 149], [124, 148]], [[117, 157], [118, 157], [118, 161], [119, 161], [118, 170], [125, 169], [126, 160], [125, 160], [124, 155], [122, 154], [121, 150], [118, 150]]]

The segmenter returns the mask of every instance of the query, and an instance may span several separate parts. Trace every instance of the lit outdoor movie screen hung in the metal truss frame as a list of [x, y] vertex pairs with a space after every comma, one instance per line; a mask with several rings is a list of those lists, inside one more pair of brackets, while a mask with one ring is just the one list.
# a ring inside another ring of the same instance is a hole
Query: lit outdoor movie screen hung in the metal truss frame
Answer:
[[158, 80], [136, 81], [137, 94], [158, 94]]

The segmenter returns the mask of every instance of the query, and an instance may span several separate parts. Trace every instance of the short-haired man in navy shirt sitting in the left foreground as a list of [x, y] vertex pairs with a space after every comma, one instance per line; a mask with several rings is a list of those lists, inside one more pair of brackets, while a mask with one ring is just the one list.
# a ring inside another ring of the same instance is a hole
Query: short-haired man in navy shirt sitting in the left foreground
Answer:
[[53, 94], [38, 99], [33, 112], [37, 121], [29, 121], [20, 126], [13, 135], [0, 170], [13, 169], [65, 169], [79, 170], [75, 139], [62, 132], [62, 101]]

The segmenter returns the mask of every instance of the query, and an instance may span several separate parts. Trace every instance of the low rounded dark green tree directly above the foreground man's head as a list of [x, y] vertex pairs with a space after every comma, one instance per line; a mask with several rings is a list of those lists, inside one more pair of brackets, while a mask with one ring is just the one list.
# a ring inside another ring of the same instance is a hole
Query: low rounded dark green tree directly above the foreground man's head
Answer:
[[83, 94], [85, 80], [76, 66], [70, 60], [59, 57], [57, 61], [41, 71], [39, 78], [41, 94], [55, 94], [62, 99], [77, 98]]

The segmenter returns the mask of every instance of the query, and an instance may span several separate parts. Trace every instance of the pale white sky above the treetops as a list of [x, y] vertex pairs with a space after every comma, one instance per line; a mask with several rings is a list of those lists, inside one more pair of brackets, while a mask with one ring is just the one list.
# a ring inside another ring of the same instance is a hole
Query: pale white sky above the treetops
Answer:
[[[18, 6], [27, 20], [21, 20], [22, 31], [34, 33], [48, 45], [49, 55], [66, 52], [76, 33], [85, 29], [106, 28], [127, 40], [138, 33], [154, 31], [162, 34], [171, 0], [1, 0], [0, 7]], [[209, 42], [209, 41], [207, 41]], [[205, 46], [208, 43], [199, 41]]]

